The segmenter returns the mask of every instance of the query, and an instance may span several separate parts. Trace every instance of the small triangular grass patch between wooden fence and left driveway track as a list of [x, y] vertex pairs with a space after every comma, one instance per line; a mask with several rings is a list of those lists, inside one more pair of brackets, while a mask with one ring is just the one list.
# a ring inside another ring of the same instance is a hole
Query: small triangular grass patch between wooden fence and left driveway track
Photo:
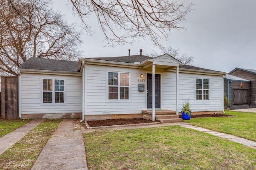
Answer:
[[0, 138], [12, 132], [13, 130], [32, 121], [32, 119], [3, 120], [0, 119]]

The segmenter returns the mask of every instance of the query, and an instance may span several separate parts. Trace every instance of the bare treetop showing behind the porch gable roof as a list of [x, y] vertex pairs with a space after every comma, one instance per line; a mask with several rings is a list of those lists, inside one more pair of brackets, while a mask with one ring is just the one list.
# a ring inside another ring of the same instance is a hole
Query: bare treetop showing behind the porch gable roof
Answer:
[[195, 61], [195, 57], [193, 55], [188, 55], [187, 53], [180, 53], [179, 48], [172, 48], [171, 46], [168, 46], [167, 48], [162, 48], [162, 53], [157, 53], [156, 51], [153, 51], [149, 54], [151, 57], [157, 57], [162, 54], [169, 54], [170, 56], [178, 59], [183, 64], [186, 65], [193, 65]]

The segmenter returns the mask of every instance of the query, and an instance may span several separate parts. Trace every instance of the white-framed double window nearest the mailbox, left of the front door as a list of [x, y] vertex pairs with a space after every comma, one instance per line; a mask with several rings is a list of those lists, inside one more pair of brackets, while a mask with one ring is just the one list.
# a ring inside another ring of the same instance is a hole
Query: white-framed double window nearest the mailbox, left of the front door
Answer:
[[129, 73], [108, 72], [108, 99], [129, 99]]

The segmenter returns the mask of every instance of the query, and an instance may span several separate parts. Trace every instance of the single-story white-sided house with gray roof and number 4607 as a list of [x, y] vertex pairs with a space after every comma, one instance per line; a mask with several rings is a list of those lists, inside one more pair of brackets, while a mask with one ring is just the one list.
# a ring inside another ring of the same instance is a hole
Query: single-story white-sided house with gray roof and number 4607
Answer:
[[22, 119], [141, 118], [142, 110], [154, 115], [158, 109], [178, 114], [187, 100], [192, 114], [223, 111], [226, 73], [182, 65], [168, 54], [80, 58], [79, 62], [30, 58], [18, 74]]

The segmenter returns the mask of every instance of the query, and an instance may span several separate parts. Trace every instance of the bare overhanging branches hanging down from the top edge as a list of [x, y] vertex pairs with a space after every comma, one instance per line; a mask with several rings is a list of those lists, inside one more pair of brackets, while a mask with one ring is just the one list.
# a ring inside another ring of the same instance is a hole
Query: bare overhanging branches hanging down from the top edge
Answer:
[[70, 0], [73, 12], [84, 24], [88, 34], [92, 27], [88, 22], [96, 15], [106, 44], [132, 43], [150, 38], [158, 47], [160, 39], [168, 39], [172, 29], [180, 30], [180, 21], [185, 20], [192, 4], [180, 0]]

